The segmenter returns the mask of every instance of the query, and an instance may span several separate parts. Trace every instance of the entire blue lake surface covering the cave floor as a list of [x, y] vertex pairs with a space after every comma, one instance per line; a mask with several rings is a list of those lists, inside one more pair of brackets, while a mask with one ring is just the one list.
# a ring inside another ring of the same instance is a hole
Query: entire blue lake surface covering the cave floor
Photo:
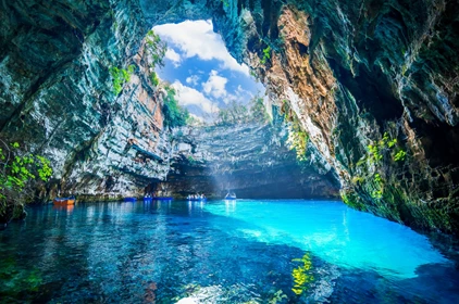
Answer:
[[1, 303], [459, 303], [458, 287], [424, 236], [340, 202], [42, 206], [0, 231]]

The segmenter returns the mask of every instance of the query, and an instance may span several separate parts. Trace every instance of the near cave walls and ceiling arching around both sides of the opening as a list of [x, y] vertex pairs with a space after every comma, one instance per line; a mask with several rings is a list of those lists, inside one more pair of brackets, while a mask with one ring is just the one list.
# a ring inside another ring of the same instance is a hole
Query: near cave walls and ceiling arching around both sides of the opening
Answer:
[[[134, 193], [165, 177], [164, 135], [134, 127], [153, 122], [145, 109], [160, 102], [153, 88], [151, 102], [136, 101], [148, 84], [134, 58], [150, 26], [212, 18], [273, 104], [309, 134], [346, 203], [411, 227], [459, 231], [455, 1], [7, 2], [0, 132], [50, 157], [62, 189]], [[109, 68], [132, 63], [139, 77], [115, 97]]]

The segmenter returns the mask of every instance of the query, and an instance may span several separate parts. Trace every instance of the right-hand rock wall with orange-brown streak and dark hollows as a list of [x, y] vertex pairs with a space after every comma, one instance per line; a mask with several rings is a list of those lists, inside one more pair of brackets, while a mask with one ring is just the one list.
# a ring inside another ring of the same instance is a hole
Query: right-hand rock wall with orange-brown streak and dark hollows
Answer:
[[224, 7], [230, 49], [337, 170], [347, 204], [457, 232], [457, 3], [289, 2]]

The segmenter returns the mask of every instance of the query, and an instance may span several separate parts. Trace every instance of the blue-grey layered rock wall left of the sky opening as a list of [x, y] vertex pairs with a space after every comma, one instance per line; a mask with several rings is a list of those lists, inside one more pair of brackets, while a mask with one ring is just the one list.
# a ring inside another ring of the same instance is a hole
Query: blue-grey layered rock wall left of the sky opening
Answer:
[[[148, 80], [147, 30], [131, 1], [1, 4], [0, 135], [51, 160], [44, 200], [116, 199], [169, 170], [161, 92]], [[110, 68], [134, 65], [120, 94]], [[85, 197], [86, 194], [86, 197]]]

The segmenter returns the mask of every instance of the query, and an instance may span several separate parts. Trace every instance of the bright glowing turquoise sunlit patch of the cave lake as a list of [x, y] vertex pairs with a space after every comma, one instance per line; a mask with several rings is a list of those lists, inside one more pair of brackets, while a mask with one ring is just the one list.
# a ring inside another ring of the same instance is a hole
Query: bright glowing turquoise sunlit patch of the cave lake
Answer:
[[424, 236], [342, 202], [225, 201], [206, 211], [252, 225], [232, 230], [235, 236], [298, 246], [340, 267], [412, 278], [419, 266], [447, 263]]

